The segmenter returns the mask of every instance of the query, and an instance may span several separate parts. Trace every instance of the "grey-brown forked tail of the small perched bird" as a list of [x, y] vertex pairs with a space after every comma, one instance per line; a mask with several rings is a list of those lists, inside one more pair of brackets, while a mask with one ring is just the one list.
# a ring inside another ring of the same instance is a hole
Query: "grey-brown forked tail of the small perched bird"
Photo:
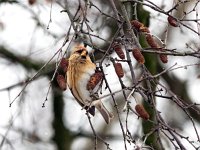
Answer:
[[106, 109], [106, 107], [103, 105], [101, 101], [95, 103], [95, 107], [99, 110], [106, 123], [109, 124], [110, 120], [114, 117], [114, 115]]

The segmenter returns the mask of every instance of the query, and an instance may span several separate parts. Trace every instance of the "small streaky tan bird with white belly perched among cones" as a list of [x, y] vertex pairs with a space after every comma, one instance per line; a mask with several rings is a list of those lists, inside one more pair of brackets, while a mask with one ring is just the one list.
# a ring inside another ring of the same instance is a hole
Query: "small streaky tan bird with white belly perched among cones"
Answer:
[[90, 77], [96, 70], [87, 49], [82, 45], [74, 47], [68, 61], [67, 84], [77, 102], [93, 116], [96, 107], [106, 123], [110, 123], [113, 114], [105, 108], [101, 100], [94, 101], [87, 89]]

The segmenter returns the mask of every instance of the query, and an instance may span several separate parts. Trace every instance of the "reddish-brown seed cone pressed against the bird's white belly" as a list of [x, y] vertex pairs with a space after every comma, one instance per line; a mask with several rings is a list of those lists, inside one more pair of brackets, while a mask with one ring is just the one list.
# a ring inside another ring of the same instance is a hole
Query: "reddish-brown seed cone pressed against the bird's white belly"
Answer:
[[87, 90], [93, 90], [102, 79], [103, 73], [100, 71], [95, 72], [88, 81]]

